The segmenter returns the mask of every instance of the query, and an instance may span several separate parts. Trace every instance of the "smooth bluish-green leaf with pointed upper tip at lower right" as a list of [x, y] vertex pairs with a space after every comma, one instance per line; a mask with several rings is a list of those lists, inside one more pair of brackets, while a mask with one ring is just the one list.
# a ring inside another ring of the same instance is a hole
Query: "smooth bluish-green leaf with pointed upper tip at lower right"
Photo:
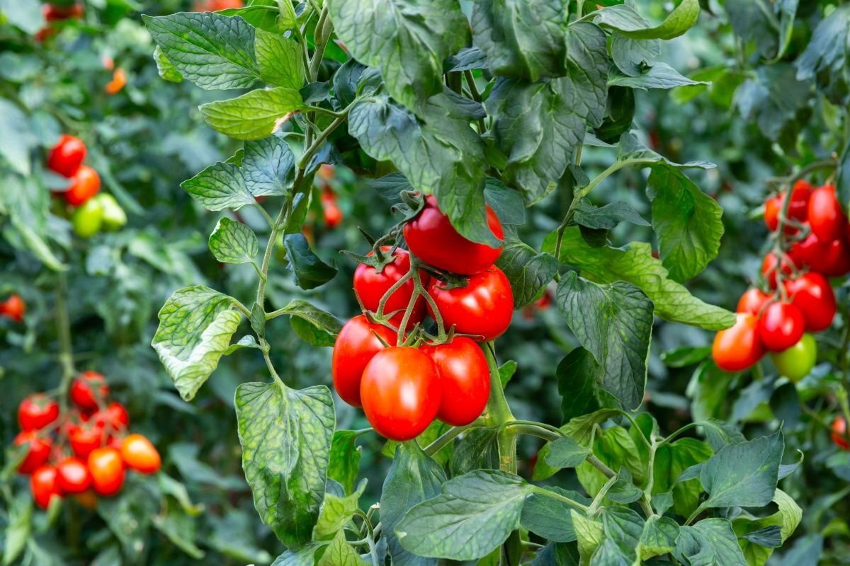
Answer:
[[784, 449], [780, 431], [721, 448], [700, 472], [700, 483], [709, 494], [701, 507], [767, 505], [774, 498]]

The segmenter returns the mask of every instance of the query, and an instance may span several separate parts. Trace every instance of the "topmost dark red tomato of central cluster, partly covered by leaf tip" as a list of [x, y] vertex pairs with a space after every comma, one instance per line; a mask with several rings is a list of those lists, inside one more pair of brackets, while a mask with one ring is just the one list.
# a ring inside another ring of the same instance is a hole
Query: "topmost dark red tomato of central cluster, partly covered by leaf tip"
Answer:
[[[487, 207], [487, 224], [496, 238], [505, 237], [490, 206]], [[404, 234], [411, 254], [447, 272], [474, 275], [492, 266], [501, 255], [501, 247], [477, 244], [458, 233], [449, 217], [437, 208], [433, 195], [426, 197], [419, 215], [405, 224]]]

